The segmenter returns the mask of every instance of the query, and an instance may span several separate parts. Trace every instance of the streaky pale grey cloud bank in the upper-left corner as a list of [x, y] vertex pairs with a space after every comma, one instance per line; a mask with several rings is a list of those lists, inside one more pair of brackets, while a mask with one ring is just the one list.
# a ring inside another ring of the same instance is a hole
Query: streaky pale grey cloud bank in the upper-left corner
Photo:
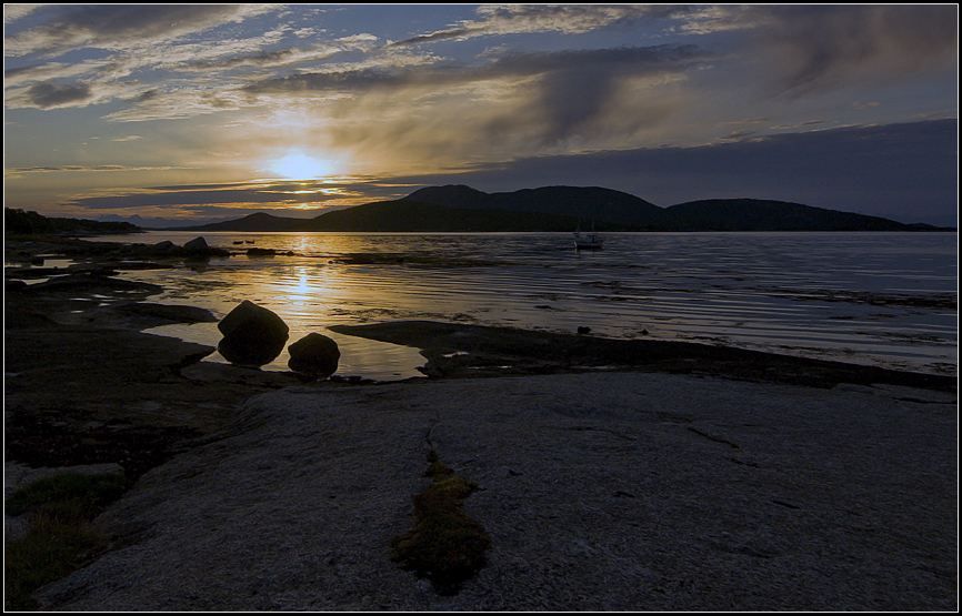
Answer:
[[[204, 88], [193, 78], [180, 77], [191, 64], [212, 65], [226, 55], [243, 54], [250, 55], [248, 63], [268, 63], [270, 53], [261, 49], [283, 37], [283, 24], [248, 39], [199, 37], [267, 10], [277, 7], [43, 7], [47, 20], [40, 26], [4, 37], [8, 57], [31, 62], [4, 71], [7, 108], [82, 108], [117, 99], [146, 101], [160, 92], [183, 97], [186, 89]], [[79, 52], [84, 59], [76, 60], [78, 55], [69, 52]], [[260, 62], [257, 53], [263, 57]], [[274, 59], [284, 54], [295, 52], [284, 51]], [[208, 89], [223, 85], [213, 81], [216, 77], [204, 69]]]

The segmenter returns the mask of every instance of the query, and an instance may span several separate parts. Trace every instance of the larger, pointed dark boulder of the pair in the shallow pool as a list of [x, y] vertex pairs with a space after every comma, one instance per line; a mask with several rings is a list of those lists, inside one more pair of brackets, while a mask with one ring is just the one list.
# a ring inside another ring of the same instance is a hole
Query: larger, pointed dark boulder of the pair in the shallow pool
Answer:
[[289, 329], [280, 316], [244, 300], [217, 324], [223, 339], [217, 350], [224, 360], [243, 366], [274, 361], [288, 342]]

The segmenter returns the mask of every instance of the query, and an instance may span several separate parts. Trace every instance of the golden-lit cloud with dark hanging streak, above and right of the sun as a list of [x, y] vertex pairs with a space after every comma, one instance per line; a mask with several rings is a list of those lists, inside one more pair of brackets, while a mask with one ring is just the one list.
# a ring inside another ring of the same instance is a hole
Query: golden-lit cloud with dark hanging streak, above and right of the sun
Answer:
[[[570, 139], [600, 147], [599, 139], [631, 135], [658, 123], [680, 100], [653, 89], [683, 79], [710, 58], [693, 44], [501, 52], [481, 63], [428, 61], [270, 78], [243, 91], [273, 101], [310, 99], [319, 114], [342, 120], [329, 123], [333, 147], [358, 150], [377, 139], [371, 149], [450, 159], [467, 149], [517, 153]], [[362, 118], [368, 121], [350, 121]], [[372, 124], [379, 134], [371, 134]]]

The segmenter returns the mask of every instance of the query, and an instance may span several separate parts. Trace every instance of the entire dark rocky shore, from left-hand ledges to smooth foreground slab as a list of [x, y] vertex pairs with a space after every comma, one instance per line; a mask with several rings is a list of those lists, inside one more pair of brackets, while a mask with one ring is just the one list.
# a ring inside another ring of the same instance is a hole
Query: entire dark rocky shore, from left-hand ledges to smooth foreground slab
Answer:
[[[46, 609], [958, 607], [955, 378], [413, 322], [338, 331], [428, 378], [303, 384], [140, 332], [213, 319], [111, 275], [182, 254], [69, 250], [6, 272], [6, 462], [136, 483]], [[389, 558], [429, 451], [492, 537], [454, 596]]]

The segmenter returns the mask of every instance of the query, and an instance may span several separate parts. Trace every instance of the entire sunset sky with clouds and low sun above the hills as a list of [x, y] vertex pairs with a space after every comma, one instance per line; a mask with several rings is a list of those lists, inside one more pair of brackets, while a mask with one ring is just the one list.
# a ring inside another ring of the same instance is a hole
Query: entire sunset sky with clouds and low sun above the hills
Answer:
[[4, 205], [194, 224], [428, 185], [955, 226], [958, 4], [4, 4]]

